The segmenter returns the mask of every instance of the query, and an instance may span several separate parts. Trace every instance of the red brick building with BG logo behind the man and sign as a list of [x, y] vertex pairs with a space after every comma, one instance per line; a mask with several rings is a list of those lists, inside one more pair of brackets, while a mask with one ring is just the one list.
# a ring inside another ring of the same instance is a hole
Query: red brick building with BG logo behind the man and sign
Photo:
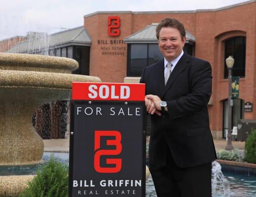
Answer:
[[235, 59], [233, 75], [240, 77], [239, 98], [234, 99], [232, 107], [232, 126], [237, 126], [242, 118], [256, 119], [254, 111], [244, 110], [245, 102], [256, 103], [256, 0], [210, 10], [107, 11], [85, 15], [89, 60], [83, 69], [103, 82], [137, 82], [144, 66], [162, 58], [154, 29], [165, 17], [184, 24], [188, 37], [184, 50], [212, 65], [213, 95], [208, 109], [213, 137], [224, 137], [227, 130], [225, 59], [230, 55]]

